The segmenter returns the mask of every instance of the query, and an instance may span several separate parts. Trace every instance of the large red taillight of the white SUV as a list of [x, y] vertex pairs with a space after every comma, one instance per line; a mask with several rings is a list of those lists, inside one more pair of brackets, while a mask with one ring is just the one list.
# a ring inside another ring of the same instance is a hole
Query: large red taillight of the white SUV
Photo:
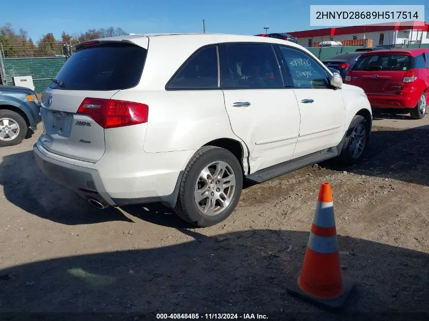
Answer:
[[85, 98], [77, 113], [90, 116], [103, 128], [114, 128], [147, 123], [149, 106], [124, 100]]

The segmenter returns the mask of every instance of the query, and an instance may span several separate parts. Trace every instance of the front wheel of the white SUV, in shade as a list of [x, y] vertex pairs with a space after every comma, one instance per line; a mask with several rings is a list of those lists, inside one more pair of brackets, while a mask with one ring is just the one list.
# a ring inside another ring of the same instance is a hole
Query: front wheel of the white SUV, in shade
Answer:
[[354, 165], [364, 158], [370, 138], [370, 125], [363, 116], [355, 115], [346, 133], [339, 160]]

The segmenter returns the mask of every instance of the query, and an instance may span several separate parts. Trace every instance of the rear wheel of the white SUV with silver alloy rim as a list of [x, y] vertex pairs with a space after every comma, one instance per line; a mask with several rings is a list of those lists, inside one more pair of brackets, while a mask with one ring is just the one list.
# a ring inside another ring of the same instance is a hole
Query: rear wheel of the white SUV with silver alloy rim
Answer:
[[218, 224], [232, 214], [243, 188], [243, 171], [229, 151], [205, 146], [190, 160], [180, 184], [176, 214], [200, 227]]

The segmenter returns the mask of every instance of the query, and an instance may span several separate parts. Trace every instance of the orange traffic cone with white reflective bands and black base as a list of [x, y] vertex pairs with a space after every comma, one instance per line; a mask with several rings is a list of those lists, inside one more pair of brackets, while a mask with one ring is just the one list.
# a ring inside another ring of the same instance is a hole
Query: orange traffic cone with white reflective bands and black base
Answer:
[[303, 267], [287, 292], [335, 309], [344, 304], [353, 285], [341, 273], [331, 185], [322, 183]]

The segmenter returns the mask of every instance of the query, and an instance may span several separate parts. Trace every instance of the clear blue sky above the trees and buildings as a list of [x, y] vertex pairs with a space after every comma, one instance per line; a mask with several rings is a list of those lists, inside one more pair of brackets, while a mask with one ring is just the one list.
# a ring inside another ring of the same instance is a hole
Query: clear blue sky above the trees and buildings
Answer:
[[[84, 32], [89, 28], [122, 27], [131, 33], [207, 32], [257, 34], [287, 32], [310, 27], [310, 5], [426, 5], [429, 0], [262, 1], [262, 0], [72, 0], [8, 1], [2, 6], [0, 25], [28, 31], [33, 41], [47, 32], [56, 38], [62, 31]], [[32, 8], [32, 9], [31, 9]], [[429, 17], [429, 11], [425, 10]], [[426, 17], [426, 22], [429, 20]]]

